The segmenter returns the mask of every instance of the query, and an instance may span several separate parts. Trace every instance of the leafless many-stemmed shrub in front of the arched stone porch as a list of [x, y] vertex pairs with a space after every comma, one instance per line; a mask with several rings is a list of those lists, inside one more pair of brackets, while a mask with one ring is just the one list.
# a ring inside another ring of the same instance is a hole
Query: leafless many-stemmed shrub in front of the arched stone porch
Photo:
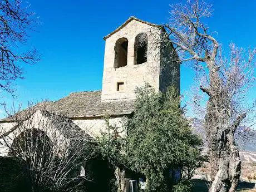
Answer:
[[2, 127], [2, 152], [26, 164], [32, 191], [75, 191], [89, 179], [85, 165], [94, 154], [92, 138], [65, 113], [48, 110], [33, 106], [10, 116], [15, 129], [6, 135]]

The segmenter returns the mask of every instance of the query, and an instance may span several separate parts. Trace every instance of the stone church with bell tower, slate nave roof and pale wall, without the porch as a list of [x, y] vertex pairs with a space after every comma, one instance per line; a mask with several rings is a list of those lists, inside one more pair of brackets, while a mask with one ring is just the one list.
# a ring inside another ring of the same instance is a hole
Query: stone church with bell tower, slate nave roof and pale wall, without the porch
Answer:
[[[165, 91], [170, 85], [180, 88], [180, 66], [170, 60], [172, 47], [158, 41], [164, 32], [161, 25], [130, 17], [104, 37], [102, 90], [73, 92], [45, 104], [66, 111], [72, 120], [71, 132], [86, 130], [94, 137], [104, 130], [105, 115], [118, 124], [134, 111], [136, 87], [149, 83], [156, 91]], [[0, 120], [0, 126], [13, 130], [14, 122], [7, 117]], [[0, 152], [6, 154], [1, 147]]]

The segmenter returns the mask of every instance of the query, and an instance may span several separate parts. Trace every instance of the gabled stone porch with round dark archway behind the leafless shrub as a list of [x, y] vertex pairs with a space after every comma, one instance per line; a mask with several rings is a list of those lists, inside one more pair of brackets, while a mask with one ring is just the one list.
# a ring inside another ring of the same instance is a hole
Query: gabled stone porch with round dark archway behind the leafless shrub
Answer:
[[[4, 155], [20, 157], [19, 159], [25, 160], [29, 166], [31, 162], [38, 162], [38, 159], [40, 159], [42, 165], [46, 165], [49, 161], [53, 163], [59, 162], [65, 158], [69, 160], [68, 158], [72, 158], [71, 154], [74, 151], [72, 147], [68, 147], [69, 144], [78, 145], [76, 139], [79, 140], [85, 136], [85, 142], [88, 142], [88, 149], [86, 147], [80, 149], [88, 150], [85, 152], [91, 151], [92, 138], [66, 116], [37, 110], [32, 115], [29, 114], [28, 119], [21, 120], [18, 124], [16, 122], [12, 124], [13, 126], [10, 126], [11, 129], [15, 129], [4, 140], [8, 144], [8, 146], [4, 145]], [[82, 145], [81, 142], [79, 143]], [[9, 146], [11, 146], [11, 149]], [[28, 151], [28, 149], [30, 150]], [[71, 155], [71, 157], [66, 155]], [[85, 160], [87, 161], [85, 158], [81, 157], [81, 163]], [[85, 173], [81, 173], [80, 159], [69, 174], [85, 176]]]

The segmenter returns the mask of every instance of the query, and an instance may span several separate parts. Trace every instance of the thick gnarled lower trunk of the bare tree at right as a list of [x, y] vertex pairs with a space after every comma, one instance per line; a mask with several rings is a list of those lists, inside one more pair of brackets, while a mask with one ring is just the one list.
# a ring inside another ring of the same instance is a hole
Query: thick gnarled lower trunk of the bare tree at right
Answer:
[[[230, 125], [221, 120], [213, 99], [208, 101], [205, 116], [206, 134], [209, 138], [209, 157], [211, 166], [211, 192], [234, 192], [240, 178], [241, 161], [235, 145], [234, 132]], [[214, 110], [215, 109], [215, 110]], [[227, 120], [226, 120], [227, 121]]]

